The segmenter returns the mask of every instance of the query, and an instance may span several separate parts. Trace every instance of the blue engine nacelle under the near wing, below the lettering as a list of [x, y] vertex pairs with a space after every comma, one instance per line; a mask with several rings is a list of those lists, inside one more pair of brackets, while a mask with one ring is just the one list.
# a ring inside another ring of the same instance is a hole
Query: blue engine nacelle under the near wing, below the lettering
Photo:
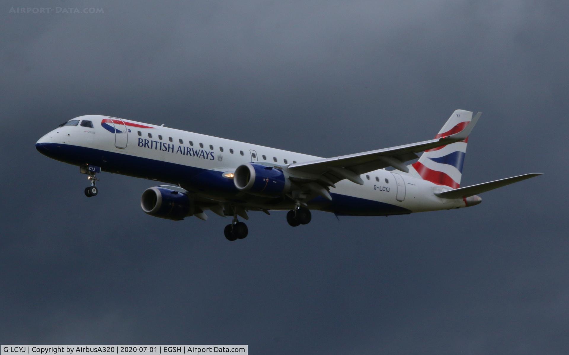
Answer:
[[255, 163], [238, 166], [233, 183], [240, 191], [263, 197], [281, 196], [290, 189], [290, 180], [281, 169]]

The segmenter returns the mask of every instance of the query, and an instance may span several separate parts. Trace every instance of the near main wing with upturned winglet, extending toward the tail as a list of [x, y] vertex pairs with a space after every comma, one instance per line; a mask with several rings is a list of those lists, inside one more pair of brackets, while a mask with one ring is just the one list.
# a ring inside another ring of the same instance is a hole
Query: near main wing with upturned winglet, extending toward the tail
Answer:
[[319, 174], [321, 175], [320, 180], [331, 186], [333, 183], [343, 179], [363, 185], [364, 181], [360, 178], [361, 174], [388, 166], [408, 172], [409, 169], [403, 163], [418, 158], [416, 153], [464, 141], [468, 138], [481, 114], [481, 112], [477, 113], [462, 130], [445, 137], [357, 154], [335, 156], [334, 158], [314, 160], [312, 162], [295, 163], [290, 164], [288, 168], [291, 172], [300, 174], [303, 172]]

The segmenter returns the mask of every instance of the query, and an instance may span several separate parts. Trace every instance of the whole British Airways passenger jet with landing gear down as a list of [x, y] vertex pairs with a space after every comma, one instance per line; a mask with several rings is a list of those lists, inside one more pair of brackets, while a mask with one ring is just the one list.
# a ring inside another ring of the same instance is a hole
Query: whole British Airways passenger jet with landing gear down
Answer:
[[207, 220], [208, 210], [232, 217], [224, 234], [235, 241], [248, 235], [238, 217], [249, 220], [251, 211], [288, 210], [288, 224], [299, 226], [311, 221], [311, 210], [337, 217], [464, 208], [480, 204], [479, 193], [542, 175], [460, 187], [468, 136], [480, 115], [456, 110], [434, 139], [333, 158], [104, 115], [61, 123], [35, 146], [79, 166], [90, 181], [88, 197], [97, 196], [101, 171], [174, 184], [147, 188], [142, 210], [175, 221]]

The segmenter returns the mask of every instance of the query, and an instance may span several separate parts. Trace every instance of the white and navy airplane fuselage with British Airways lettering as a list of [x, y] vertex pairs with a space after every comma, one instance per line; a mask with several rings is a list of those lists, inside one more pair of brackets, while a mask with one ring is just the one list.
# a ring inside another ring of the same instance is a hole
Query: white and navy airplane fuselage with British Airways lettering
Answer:
[[[170, 127], [123, 120], [116, 125], [101, 115], [76, 118], [93, 127], [63, 126], [40, 138], [42, 154], [77, 166], [172, 183], [200, 199], [240, 204], [246, 209], [290, 209], [291, 201], [247, 196], [224, 177], [241, 164], [258, 162], [286, 167], [321, 159], [271, 147], [232, 141]], [[105, 123], [105, 120], [108, 121]], [[105, 126], [106, 124], [106, 126]], [[120, 131], [120, 133], [119, 133]], [[376, 170], [361, 175], [363, 185], [341, 180], [330, 188], [332, 201], [321, 197], [308, 202], [311, 209], [337, 214], [380, 216], [465, 207], [463, 199], [441, 199], [436, 185], [401, 171]]]

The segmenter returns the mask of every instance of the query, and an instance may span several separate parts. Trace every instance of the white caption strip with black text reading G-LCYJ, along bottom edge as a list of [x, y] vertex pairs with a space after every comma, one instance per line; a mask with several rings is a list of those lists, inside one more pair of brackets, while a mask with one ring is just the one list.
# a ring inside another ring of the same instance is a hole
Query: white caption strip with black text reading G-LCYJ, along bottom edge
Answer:
[[0, 355], [249, 354], [248, 345], [0, 345]]

